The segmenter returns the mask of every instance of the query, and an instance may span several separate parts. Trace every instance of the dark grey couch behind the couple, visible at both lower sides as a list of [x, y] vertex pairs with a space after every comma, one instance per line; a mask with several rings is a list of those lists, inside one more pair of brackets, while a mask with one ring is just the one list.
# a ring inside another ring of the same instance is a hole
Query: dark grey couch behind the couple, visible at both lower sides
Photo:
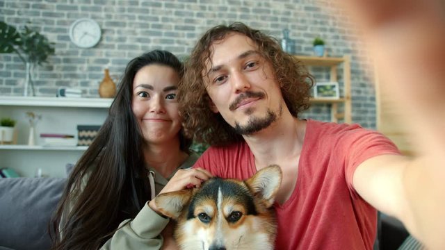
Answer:
[[[0, 178], [0, 250], [49, 249], [49, 218], [65, 182], [66, 178]], [[401, 244], [400, 249], [422, 249], [406, 248], [407, 237], [403, 224], [380, 214], [375, 250], [399, 249]]]

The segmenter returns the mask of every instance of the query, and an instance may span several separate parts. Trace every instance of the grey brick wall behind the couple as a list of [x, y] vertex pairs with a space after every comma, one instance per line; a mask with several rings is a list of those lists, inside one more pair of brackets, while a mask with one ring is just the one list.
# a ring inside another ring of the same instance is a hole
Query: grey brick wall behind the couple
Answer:
[[[81, 17], [95, 19], [101, 26], [102, 40], [96, 47], [81, 49], [70, 42], [70, 24]], [[375, 128], [375, 95], [366, 76], [372, 75], [370, 59], [346, 14], [329, 0], [0, 0], [0, 20], [38, 28], [56, 43], [56, 55], [34, 75], [37, 95], [50, 97], [59, 87], [79, 88], [85, 97], [98, 97], [105, 68], [117, 79], [127, 62], [144, 51], [167, 49], [185, 56], [216, 24], [241, 21], [276, 38], [289, 28], [296, 53], [302, 55], [312, 55], [312, 40], [321, 36], [330, 56], [352, 56], [353, 122]], [[323, 72], [316, 76], [318, 81], [328, 79]], [[0, 54], [0, 95], [23, 95], [24, 78], [22, 61], [15, 54]], [[314, 106], [304, 116], [330, 119], [326, 105]]]

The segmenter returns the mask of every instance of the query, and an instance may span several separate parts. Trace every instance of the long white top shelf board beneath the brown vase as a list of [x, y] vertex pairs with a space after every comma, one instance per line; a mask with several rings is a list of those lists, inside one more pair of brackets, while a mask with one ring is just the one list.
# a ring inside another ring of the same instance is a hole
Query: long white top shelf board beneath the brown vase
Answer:
[[0, 106], [109, 108], [112, 102], [111, 98], [0, 97]]

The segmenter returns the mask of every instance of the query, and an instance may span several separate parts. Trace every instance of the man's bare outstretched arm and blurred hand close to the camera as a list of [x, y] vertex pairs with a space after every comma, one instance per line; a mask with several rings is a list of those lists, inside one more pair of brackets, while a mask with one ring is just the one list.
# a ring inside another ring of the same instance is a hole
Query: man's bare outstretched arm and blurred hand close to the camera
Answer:
[[[343, 0], [364, 34], [377, 70], [404, 109], [418, 157], [377, 156], [353, 185], [395, 215], [430, 249], [445, 246], [445, 3]], [[440, 48], [440, 49], [437, 49]]]

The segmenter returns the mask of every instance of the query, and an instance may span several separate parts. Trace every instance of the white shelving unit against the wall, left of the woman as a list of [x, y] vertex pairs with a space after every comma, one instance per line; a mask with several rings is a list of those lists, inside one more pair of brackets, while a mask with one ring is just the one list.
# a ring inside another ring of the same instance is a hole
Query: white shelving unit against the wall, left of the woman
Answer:
[[[65, 133], [77, 138], [78, 125], [102, 125], [113, 99], [68, 97], [0, 97], [0, 118], [17, 120], [15, 144], [0, 144], [0, 167], [15, 169], [21, 176], [42, 174], [65, 177], [65, 165], [76, 163], [81, 147], [43, 147], [40, 133]], [[26, 112], [42, 115], [36, 126], [36, 145], [29, 146]]]

